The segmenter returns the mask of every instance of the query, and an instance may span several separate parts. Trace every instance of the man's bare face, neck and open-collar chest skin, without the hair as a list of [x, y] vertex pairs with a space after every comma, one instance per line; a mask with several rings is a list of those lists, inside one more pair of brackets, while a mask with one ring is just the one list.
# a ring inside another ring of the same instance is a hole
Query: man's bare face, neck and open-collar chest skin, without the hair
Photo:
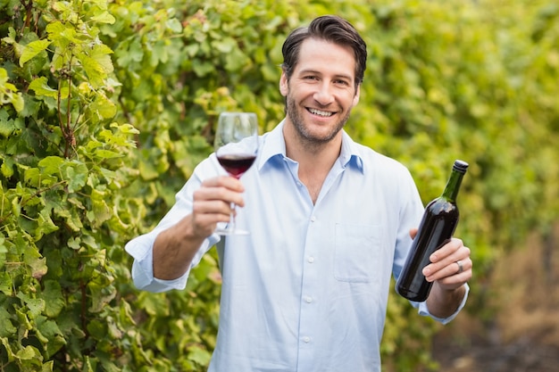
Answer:
[[355, 56], [350, 46], [315, 37], [300, 39], [302, 36], [304, 29], [290, 39], [295, 46], [286, 44], [283, 48], [284, 54], [297, 53], [295, 66], [288, 64], [293, 58], [286, 56], [289, 62], [283, 63], [280, 79], [288, 113], [283, 136], [286, 154], [299, 162], [299, 178], [315, 203], [338, 159], [341, 129], [359, 102], [360, 83], [355, 79]]

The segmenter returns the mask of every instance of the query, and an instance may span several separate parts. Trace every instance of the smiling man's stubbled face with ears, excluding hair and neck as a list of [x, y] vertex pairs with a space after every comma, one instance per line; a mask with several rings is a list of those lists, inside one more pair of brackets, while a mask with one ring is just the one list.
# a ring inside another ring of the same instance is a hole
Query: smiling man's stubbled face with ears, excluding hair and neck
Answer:
[[310, 38], [303, 42], [291, 78], [281, 74], [288, 124], [307, 143], [334, 138], [359, 102], [355, 57], [349, 47]]

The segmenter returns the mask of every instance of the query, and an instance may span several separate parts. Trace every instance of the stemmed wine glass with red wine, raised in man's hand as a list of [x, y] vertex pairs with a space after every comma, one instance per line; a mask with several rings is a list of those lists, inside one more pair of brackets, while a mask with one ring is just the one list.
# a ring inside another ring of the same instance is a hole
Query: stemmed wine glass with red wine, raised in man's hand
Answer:
[[[258, 152], [258, 120], [254, 112], [221, 112], [215, 132], [214, 149], [221, 167], [230, 176], [240, 178], [256, 159]], [[215, 231], [222, 236], [247, 235], [235, 225], [235, 204], [226, 227]]]

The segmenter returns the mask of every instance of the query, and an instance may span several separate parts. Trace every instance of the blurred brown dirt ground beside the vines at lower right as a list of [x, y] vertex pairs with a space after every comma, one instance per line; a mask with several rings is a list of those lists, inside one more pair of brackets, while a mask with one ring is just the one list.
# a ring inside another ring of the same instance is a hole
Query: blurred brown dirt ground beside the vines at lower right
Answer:
[[496, 317], [463, 312], [443, 327], [433, 343], [439, 371], [559, 371], [558, 244], [559, 226], [551, 239], [533, 236], [499, 260], [487, 302]]

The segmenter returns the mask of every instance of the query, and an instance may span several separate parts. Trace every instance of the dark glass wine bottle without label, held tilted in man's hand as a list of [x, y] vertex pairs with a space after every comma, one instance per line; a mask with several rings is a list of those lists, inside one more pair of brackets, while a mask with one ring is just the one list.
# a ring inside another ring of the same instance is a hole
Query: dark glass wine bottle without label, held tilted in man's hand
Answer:
[[445, 191], [425, 208], [404, 269], [396, 282], [396, 292], [410, 301], [423, 302], [429, 296], [433, 284], [425, 279], [422, 269], [430, 264], [431, 253], [446, 244], [455, 233], [459, 217], [456, 196], [466, 169], [467, 162], [456, 160]]

